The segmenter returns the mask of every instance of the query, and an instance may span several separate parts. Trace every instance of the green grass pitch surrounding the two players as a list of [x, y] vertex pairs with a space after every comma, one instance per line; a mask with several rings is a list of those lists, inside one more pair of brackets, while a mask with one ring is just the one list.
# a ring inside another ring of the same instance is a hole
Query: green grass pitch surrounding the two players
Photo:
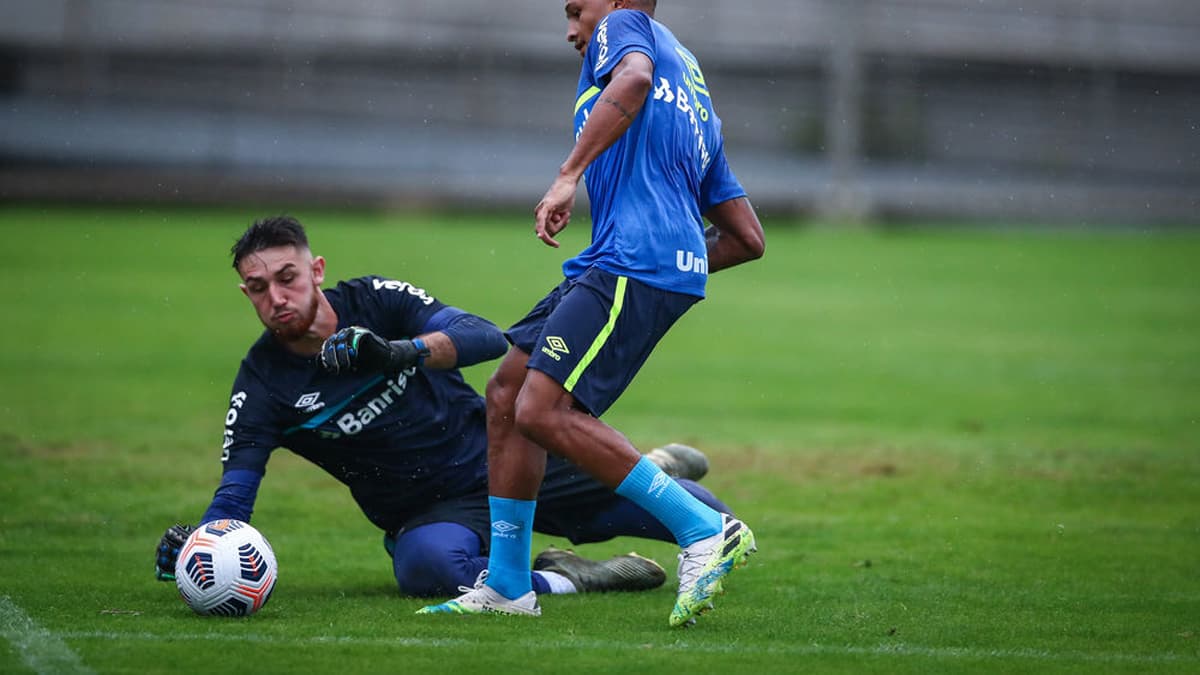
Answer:
[[[220, 478], [259, 333], [228, 263], [271, 211], [0, 209], [0, 671], [1200, 670], [1200, 238], [768, 225], [607, 417], [704, 448], [760, 554], [691, 629], [667, 587], [421, 617], [378, 533], [276, 453], [247, 620], [154, 580]], [[528, 219], [296, 213], [329, 275], [506, 324], [558, 281]], [[493, 364], [468, 370], [482, 386]], [[565, 542], [540, 537], [535, 546]], [[676, 550], [623, 539], [673, 571]]]

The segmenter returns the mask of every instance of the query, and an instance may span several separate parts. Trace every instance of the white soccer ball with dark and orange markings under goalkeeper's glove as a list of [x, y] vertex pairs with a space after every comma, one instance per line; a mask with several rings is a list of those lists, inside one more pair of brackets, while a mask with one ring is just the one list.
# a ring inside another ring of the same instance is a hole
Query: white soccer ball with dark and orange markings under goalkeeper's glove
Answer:
[[266, 604], [278, 568], [263, 534], [240, 520], [198, 527], [179, 549], [175, 586], [204, 616], [248, 616]]

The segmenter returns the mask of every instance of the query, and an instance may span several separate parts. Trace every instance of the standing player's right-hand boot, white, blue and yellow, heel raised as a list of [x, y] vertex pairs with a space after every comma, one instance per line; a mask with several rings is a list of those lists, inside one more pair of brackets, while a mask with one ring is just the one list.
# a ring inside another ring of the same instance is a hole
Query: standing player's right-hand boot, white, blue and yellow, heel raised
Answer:
[[670, 623], [683, 626], [713, 608], [713, 597], [724, 592], [722, 579], [746, 563], [755, 546], [745, 522], [721, 514], [721, 531], [685, 548], [679, 554], [679, 595]]

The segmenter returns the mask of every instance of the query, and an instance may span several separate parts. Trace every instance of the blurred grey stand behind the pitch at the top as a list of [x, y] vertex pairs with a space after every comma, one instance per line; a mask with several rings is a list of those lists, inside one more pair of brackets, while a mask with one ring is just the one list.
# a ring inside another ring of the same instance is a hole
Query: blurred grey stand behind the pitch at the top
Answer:
[[[760, 208], [1195, 225], [1196, 0], [662, 0]], [[560, 0], [0, 0], [0, 199], [532, 209]]]

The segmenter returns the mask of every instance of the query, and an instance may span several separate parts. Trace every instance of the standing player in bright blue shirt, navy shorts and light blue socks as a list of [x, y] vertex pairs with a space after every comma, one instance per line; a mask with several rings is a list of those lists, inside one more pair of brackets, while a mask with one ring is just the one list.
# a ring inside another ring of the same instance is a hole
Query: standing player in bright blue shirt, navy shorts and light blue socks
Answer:
[[[535, 233], [558, 246], [554, 235], [570, 220], [586, 171], [592, 244], [508, 331], [512, 348], [487, 384], [486, 581], [421, 613], [541, 614], [529, 583], [528, 524], [542, 508], [535, 497], [553, 466], [547, 450], [671, 531], [683, 549], [672, 626], [708, 609], [725, 575], [755, 550], [744, 522], [668, 479], [599, 419], [671, 324], [703, 298], [708, 274], [763, 252], [762, 226], [725, 160], [700, 64], [653, 19], [654, 8], [653, 0], [566, 0], [566, 40], [583, 58], [576, 142], [534, 210]], [[728, 353], [714, 345], [714, 358]]]

